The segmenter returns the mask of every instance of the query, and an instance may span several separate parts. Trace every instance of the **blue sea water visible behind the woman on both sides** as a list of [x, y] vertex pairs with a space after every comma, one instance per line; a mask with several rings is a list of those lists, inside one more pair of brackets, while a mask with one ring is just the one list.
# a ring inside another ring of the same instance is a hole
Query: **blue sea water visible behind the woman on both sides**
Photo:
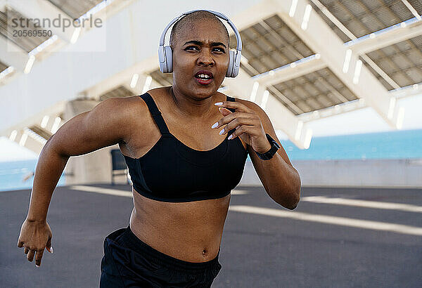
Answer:
[[[290, 160], [317, 159], [410, 159], [422, 158], [422, 129], [362, 133], [312, 138], [309, 149], [301, 150], [290, 140], [281, 140]], [[30, 189], [38, 159], [0, 162], [0, 191]], [[250, 161], [248, 157], [248, 161]], [[62, 174], [58, 186], [65, 185]]]

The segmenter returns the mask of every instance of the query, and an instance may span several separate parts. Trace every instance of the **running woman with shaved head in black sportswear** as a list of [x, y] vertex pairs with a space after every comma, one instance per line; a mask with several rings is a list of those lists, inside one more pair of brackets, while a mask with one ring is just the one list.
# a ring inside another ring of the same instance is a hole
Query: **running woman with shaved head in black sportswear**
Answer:
[[28, 261], [37, 252], [39, 266], [44, 248], [52, 252], [46, 214], [69, 157], [116, 143], [134, 183], [134, 209], [129, 226], [104, 241], [101, 287], [210, 287], [222, 268], [230, 191], [248, 153], [269, 196], [297, 206], [300, 177], [272, 140], [267, 114], [217, 92], [230, 62], [222, 22], [207, 11], [188, 13], [174, 25], [170, 46], [172, 86], [104, 100], [44, 146], [18, 240]]

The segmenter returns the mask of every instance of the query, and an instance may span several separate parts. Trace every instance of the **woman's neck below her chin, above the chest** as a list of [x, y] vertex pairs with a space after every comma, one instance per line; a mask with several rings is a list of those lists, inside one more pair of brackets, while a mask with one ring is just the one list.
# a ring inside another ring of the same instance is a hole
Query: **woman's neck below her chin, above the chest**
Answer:
[[170, 96], [172, 96], [174, 111], [183, 117], [204, 119], [215, 114], [218, 109], [214, 105], [214, 103], [219, 101], [219, 95], [217, 93], [207, 98], [192, 98], [185, 96], [177, 91], [177, 89], [173, 89], [173, 86], [170, 86]]

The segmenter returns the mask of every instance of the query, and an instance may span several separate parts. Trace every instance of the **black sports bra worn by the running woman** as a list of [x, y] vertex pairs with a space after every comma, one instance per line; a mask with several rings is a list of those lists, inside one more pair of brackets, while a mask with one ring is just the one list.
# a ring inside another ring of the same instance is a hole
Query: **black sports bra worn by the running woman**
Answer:
[[[229, 195], [241, 181], [248, 157], [238, 137], [227, 139], [235, 129], [226, 133], [217, 147], [194, 150], [170, 133], [148, 92], [139, 97], [148, 106], [161, 137], [140, 158], [124, 155], [136, 192], [162, 202], [191, 202]], [[227, 100], [234, 98], [227, 96]]]

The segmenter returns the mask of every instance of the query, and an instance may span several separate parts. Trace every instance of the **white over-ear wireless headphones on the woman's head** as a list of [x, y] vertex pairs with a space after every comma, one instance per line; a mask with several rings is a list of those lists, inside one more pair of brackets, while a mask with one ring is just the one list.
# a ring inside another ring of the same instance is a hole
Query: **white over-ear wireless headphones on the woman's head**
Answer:
[[232, 77], [232, 78], [236, 77], [238, 75], [238, 72], [239, 72], [239, 67], [241, 65], [241, 57], [242, 57], [241, 35], [239, 34], [238, 30], [234, 26], [233, 22], [231, 22], [231, 20], [229, 20], [229, 18], [227, 18], [224, 14], [219, 13], [219, 12], [215, 12], [215, 11], [210, 11], [210, 10], [202, 10], [202, 9], [182, 13], [178, 17], [174, 18], [172, 20], [172, 22], [170, 22], [169, 25], [167, 25], [167, 27], [165, 27], [165, 30], [162, 32], [161, 37], [160, 37], [160, 46], [158, 47], [158, 59], [160, 61], [160, 71], [162, 73], [173, 72], [172, 48], [170, 47], [170, 45], [164, 46], [164, 39], [165, 39], [165, 34], [166, 34], [167, 30], [169, 30], [170, 26], [172, 26], [172, 24], [174, 22], [179, 20], [179, 18], [181, 18], [181, 16], [188, 15], [188, 14], [193, 13], [195, 11], [208, 11], [208, 12], [216, 15], [217, 17], [226, 20], [229, 23], [229, 25], [231, 26], [231, 28], [234, 30], [234, 33], [236, 35], [237, 46], [236, 46], [236, 51], [229, 51], [230, 62], [229, 62], [229, 69], [227, 69], [227, 72], [226, 72], [226, 77]]

